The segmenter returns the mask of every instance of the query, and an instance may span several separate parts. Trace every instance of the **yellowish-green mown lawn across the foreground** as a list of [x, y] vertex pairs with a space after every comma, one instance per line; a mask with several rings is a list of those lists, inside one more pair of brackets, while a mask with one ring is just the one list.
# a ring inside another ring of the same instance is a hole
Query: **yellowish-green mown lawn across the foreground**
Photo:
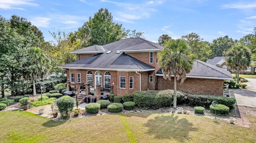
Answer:
[[255, 142], [246, 128], [201, 116], [127, 113], [52, 121], [26, 111], [0, 112], [2, 143]]

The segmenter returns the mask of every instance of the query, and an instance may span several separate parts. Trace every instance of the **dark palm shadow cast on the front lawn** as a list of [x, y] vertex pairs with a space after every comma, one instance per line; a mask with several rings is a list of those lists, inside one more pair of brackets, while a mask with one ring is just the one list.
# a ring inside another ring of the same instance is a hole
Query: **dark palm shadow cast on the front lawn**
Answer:
[[149, 128], [146, 133], [155, 135], [157, 139], [176, 139], [179, 142], [189, 140], [188, 133], [196, 131], [197, 128], [188, 122], [188, 119], [178, 119], [178, 116], [178, 114], [174, 116], [174, 113], [172, 113], [171, 116], [162, 115], [148, 120], [148, 123], [144, 124]]

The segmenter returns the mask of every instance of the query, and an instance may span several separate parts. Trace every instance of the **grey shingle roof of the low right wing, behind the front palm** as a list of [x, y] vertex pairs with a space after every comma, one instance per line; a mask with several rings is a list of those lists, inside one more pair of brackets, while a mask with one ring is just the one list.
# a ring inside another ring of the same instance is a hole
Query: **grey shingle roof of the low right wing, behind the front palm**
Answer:
[[[159, 69], [156, 74], [162, 74], [162, 70]], [[194, 62], [193, 69], [186, 76], [206, 76], [216, 78], [232, 78], [229, 71], [222, 68], [210, 65], [200, 60]]]

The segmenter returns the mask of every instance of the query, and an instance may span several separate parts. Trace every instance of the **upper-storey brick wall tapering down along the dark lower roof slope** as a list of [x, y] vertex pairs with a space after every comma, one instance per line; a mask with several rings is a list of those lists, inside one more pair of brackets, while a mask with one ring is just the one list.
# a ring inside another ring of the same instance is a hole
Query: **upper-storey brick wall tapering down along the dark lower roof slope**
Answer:
[[[125, 53], [126, 55], [129, 55], [131, 57], [134, 57], [135, 59], [138, 59], [148, 65], [151, 65], [152, 67], [155, 67], [156, 71], [159, 69], [158, 63], [156, 63], [156, 55], [157, 52], [153, 52], [153, 63], [149, 63], [149, 55], [150, 52], [140, 52], [140, 53]], [[155, 72], [156, 72], [155, 71]]]

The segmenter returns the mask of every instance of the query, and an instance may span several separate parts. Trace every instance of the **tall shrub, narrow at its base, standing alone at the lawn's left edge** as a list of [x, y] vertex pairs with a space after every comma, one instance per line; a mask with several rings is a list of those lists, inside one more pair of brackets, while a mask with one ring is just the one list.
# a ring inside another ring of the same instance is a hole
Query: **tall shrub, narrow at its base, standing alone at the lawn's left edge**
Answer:
[[56, 104], [58, 106], [58, 110], [60, 111], [60, 118], [70, 118], [70, 112], [72, 112], [75, 104], [74, 98], [70, 96], [63, 96], [56, 100]]

